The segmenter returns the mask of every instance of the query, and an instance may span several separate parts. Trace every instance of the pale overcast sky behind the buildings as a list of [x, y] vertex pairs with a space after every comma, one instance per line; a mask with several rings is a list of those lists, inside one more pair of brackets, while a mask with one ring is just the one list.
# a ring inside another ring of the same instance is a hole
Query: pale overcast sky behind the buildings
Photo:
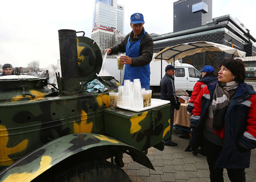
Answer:
[[[157, 3], [156, 3], [157, 2]], [[173, 0], [118, 0], [125, 7], [125, 34], [131, 31], [130, 15], [144, 15], [146, 31], [173, 31]], [[40, 67], [59, 59], [59, 29], [85, 31], [91, 37], [94, 0], [4, 0], [0, 5], [0, 65]], [[237, 17], [256, 37], [255, 0], [213, 0], [213, 18]], [[79, 35], [79, 34], [78, 34]], [[82, 35], [82, 34], [81, 34]]]

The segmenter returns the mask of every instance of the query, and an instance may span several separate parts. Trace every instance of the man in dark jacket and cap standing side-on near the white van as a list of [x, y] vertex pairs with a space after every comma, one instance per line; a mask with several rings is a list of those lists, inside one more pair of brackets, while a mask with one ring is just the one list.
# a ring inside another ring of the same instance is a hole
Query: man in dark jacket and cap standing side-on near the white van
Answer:
[[[161, 99], [162, 100], [169, 100], [171, 102], [170, 108], [170, 126], [171, 131], [173, 129], [173, 122], [174, 122], [174, 109], [176, 105], [179, 104], [179, 101], [176, 99], [175, 95], [175, 86], [174, 86], [174, 74], [176, 68], [173, 65], [167, 65], [165, 68], [165, 75], [160, 82], [161, 88]], [[164, 140], [165, 145], [176, 146], [177, 143], [171, 141], [171, 134], [170, 137]]]

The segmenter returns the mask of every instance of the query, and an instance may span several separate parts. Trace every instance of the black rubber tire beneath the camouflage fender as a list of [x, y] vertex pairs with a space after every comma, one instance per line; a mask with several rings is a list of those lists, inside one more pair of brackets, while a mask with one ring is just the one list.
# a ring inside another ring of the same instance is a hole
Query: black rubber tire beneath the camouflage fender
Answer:
[[47, 178], [48, 182], [131, 182], [119, 166], [106, 160], [75, 164], [65, 171], [48, 173]]

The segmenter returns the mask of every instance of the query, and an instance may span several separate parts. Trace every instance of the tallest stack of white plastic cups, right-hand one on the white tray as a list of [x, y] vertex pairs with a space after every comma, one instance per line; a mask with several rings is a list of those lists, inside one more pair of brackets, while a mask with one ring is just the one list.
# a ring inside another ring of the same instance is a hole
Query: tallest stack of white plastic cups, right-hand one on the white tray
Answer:
[[141, 91], [140, 79], [133, 80], [133, 108], [143, 108], [143, 97]]

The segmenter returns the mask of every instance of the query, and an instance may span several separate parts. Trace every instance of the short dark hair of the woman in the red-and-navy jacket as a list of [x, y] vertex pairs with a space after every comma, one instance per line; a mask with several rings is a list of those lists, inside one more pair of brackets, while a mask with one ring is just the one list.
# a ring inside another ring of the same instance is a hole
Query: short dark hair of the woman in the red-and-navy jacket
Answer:
[[220, 63], [220, 67], [225, 66], [235, 75], [235, 82], [243, 83], [245, 80], [245, 68], [244, 63], [240, 59], [223, 60]]

